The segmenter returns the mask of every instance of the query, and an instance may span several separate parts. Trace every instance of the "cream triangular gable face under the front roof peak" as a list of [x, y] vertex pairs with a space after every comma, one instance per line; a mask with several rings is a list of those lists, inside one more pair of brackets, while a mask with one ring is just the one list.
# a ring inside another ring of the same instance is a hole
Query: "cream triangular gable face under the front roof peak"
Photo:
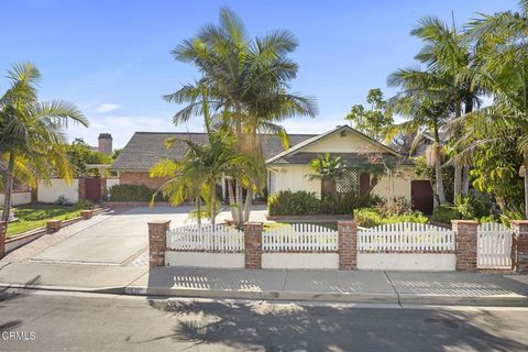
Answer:
[[333, 133], [302, 148], [306, 153], [381, 153], [380, 145], [358, 134], [345, 131]]

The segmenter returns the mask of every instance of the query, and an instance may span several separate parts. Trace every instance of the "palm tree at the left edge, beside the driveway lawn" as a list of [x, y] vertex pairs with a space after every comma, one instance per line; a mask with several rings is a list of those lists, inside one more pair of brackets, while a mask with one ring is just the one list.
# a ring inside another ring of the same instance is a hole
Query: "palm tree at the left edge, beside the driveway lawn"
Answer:
[[74, 169], [68, 161], [62, 129], [68, 121], [88, 125], [88, 120], [72, 103], [62, 100], [38, 102], [38, 69], [31, 63], [13, 65], [8, 72], [10, 88], [0, 98], [0, 163], [6, 200], [2, 221], [11, 208], [13, 182], [36, 186], [52, 174], [69, 180]]

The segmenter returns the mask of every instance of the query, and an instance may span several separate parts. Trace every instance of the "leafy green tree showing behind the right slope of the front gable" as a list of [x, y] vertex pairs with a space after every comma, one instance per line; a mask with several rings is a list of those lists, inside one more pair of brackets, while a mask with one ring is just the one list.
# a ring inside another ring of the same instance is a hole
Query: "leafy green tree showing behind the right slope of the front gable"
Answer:
[[382, 142], [387, 129], [393, 124], [393, 116], [386, 109], [386, 102], [383, 100], [383, 92], [380, 88], [369, 90], [366, 102], [371, 105], [370, 110], [362, 105], [355, 105], [344, 119], [349, 120], [358, 131]]

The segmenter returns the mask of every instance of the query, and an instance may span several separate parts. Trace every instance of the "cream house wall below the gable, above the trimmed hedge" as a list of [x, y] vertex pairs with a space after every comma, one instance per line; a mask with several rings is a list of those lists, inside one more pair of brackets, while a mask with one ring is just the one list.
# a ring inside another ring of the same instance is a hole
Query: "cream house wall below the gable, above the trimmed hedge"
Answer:
[[276, 191], [279, 190], [306, 190], [315, 191], [318, 196], [321, 193], [321, 182], [310, 180], [308, 175], [314, 174], [308, 165], [286, 165], [273, 167], [275, 173]]

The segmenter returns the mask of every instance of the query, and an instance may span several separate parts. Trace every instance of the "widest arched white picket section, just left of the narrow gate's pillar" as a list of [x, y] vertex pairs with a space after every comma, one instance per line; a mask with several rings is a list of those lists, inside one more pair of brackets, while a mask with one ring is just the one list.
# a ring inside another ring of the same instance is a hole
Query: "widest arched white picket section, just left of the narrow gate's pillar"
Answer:
[[446, 253], [454, 248], [452, 230], [428, 223], [388, 223], [358, 232], [359, 252]]

